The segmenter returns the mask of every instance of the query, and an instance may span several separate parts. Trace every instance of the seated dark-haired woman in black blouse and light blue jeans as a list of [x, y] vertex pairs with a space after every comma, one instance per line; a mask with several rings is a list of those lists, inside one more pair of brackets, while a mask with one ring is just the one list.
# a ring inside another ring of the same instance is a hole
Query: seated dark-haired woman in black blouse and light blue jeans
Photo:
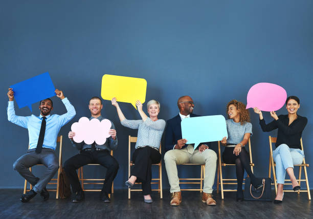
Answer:
[[286, 171], [290, 177], [294, 191], [300, 190], [298, 181], [294, 174], [294, 164], [302, 164], [304, 154], [301, 150], [300, 139], [302, 131], [307, 123], [307, 118], [297, 114], [300, 108], [300, 100], [296, 96], [290, 96], [286, 100], [288, 115], [277, 116], [274, 111], [271, 116], [274, 118], [269, 124], [266, 124], [262, 112], [255, 107], [254, 112], [259, 114], [260, 125], [263, 132], [271, 132], [278, 128], [276, 149], [273, 151], [273, 158], [276, 163], [277, 194], [274, 200], [279, 204], [283, 199], [283, 186], [285, 182]]

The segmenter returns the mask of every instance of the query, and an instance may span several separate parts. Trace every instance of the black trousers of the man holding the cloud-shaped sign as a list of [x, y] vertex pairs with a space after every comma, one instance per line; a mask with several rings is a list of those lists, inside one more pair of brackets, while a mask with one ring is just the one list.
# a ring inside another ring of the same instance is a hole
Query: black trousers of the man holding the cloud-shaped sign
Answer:
[[65, 161], [64, 170], [70, 180], [73, 192], [82, 190], [76, 169], [91, 163], [100, 164], [107, 168], [101, 192], [111, 193], [112, 183], [118, 172], [119, 164], [108, 150], [82, 150], [80, 154]]

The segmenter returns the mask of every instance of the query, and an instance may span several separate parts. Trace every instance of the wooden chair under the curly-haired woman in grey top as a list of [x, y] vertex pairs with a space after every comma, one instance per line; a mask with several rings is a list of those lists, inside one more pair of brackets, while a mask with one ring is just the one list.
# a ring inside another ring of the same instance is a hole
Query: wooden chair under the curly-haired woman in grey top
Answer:
[[[250, 138], [248, 141], [248, 145], [249, 145], [250, 166], [251, 166], [251, 171], [253, 172], [254, 163], [252, 162]], [[221, 198], [223, 200], [225, 191], [237, 191], [237, 189], [224, 189], [223, 185], [237, 185], [237, 179], [223, 179], [222, 168], [221, 168], [222, 166], [236, 166], [236, 164], [226, 164], [226, 163], [221, 162], [220, 141], [218, 141], [218, 165], [217, 165], [217, 191], [216, 191], [216, 193], [219, 192], [218, 187], [220, 185]], [[233, 182], [233, 181], [236, 181], [236, 182]], [[244, 181], [245, 181], [245, 179], [243, 179], [242, 184], [244, 184]]]

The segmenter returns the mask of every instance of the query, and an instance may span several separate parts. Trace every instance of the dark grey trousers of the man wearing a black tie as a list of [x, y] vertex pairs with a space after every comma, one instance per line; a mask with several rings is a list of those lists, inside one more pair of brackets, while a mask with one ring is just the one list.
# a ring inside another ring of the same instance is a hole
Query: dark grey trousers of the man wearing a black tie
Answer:
[[[29, 171], [29, 167], [36, 164], [43, 164], [47, 167], [43, 176], [38, 179], [34, 174]], [[25, 178], [30, 184], [34, 186], [34, 191], [40, 193], [47, 183], [50, 182], [54, 174], [59, 169], [58, 159], [54, 154], [54, 150], [42, 148], [41, 153], [37, 154], [35, 151], [29, 151], [27, 154], [18, 158], [13, 164], [13, 169]]]

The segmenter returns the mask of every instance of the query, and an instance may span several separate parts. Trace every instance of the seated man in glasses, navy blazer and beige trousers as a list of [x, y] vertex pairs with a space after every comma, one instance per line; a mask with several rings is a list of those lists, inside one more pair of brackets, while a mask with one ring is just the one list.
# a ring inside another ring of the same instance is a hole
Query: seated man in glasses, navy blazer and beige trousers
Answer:
[[191, 97], [183, 96], [177, 101], [180, 114], [167, 121], [165, 129], [165, 149], [164, 156], [166, 172], [170, 184], [170, 192], [172, 200], [170, 205], [180, 205], [182, 202], [182, 194], [177, 176], [177, 164], [197, 163], [205, 164], [205, 178], [202, 201], [207, 205], [216, 205], [212, 198], [212, 186], [214, 184], [216, 171], [216, 153], [209, 149], [210, 142], [200, 143], [194, 150], [194, 144], [186, 144], [187, 140], [182, 139], [181, 122], [185, 118], [196, 117], [192, 114], [194, 103]]

